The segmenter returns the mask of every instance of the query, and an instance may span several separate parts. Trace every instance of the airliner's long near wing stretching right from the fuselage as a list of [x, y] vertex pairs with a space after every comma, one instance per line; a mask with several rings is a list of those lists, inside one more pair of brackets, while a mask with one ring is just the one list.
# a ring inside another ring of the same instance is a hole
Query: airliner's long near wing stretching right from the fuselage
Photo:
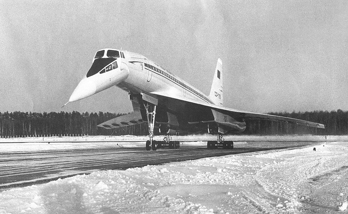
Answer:
[[[243, 118], [264, 119], [264, 120], [271, 120], [271, 121], [284, 121], [284, 122], [288, 122], [288, 123], [295, 123], [298, 125], [305, 125], [308, 127], [316, 127], [316, 128], [325, 129], [325, 125], [321, 124], [321, 123], [299, 120], [299, 119], [294, 119], [294, 118], [290, 118], [290, 117], [282, 117], [282, 116], [275, 116], [275, 115], [269, 115], [269, 114], [263, 114], [263, 113], [248, 112], [248, 111], [244, 111], [244, 110], [238, 110], [238, 109], [227, 108], [227, 107], [223, 107], [223, 106], [212, 105], [212, 104], [209, 104], [209, 103], [203, 102], [203, 101], [193, 101], [190, 99], [186, 99], [186, 98], [183, 98], [183, 97], [178, 96], [178, 95], [173, 94], [173, 93], [152, 92], [151, 94], [156, 94], [156, 95], [167, 97], [167, 98], [182, 100], [182, 101], [190, 102], [193, 104], [203, 105], [203, 106], [210, 107], [211, 109], [215, 109], [215, 110], [222, 110], [222, 111], [226, 111], [226, 112], [234, 113], [234, 114], [237, 113], [238, 115], [240, 115], [240, 117], [243, 117]], [[201, 121], [201, 122], [209, 122], [209, 121]]]

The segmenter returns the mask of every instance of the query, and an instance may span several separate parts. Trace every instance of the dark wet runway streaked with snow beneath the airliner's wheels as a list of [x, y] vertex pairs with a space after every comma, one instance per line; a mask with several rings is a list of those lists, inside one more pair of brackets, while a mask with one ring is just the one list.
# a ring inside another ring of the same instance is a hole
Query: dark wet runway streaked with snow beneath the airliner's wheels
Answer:
[[96, 170], [127, 169], [212, 156], [292, 149], [315, 144], [317, 142], [263, 142], [252, 144], [252, 146], [235, 146], [233, 150], [182, 146], [177, 150], [161, 148], [157, 151], [146, 151], [145, 148], [94, 148], [2, 152], [0, 153], [0, 190], [45, 183], [78, 174], [89, 174]]

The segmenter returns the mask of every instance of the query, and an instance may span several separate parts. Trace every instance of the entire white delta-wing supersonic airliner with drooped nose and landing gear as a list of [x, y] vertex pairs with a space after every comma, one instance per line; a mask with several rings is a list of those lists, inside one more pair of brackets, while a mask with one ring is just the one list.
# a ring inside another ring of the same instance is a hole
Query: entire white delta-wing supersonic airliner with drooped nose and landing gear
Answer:
[[[105, 48], [96, 52], [92, 67], [68, 102], [89, 97], [115, 85], [127, 91], [134, 112], [106, 121], [98, 127], [113, 129], [147, 123], [149, 140], [145, 147], [148, 151], [151, 148], [155, 151], [160, 146], [179, 148], [180, 143], [171, 141], [170, 137], [177, 131], [198, 133], [204, 130], [217, 135], [216, 141], [207, 142], [208, 148], [232, 149], [233, 142], [224, 140], [223, 134], [244, 131], [245, 119], [252, 118], [325, 128], [320, 123], [224, 107], [222, 80], [221, 59], [217, 60], [212, 87], [207, 96], [141, 54]], [[163, 142], [153, 140], [155, 127], [166, 136]]]

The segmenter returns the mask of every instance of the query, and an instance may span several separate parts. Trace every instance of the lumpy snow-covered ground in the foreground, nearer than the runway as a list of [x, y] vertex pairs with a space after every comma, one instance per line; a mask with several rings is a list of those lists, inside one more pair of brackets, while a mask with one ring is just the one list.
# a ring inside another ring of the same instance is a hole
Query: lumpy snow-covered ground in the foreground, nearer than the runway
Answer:
[[97, 171], [14, 188], [0, 192], [0, 213], [338, 212], [339, 202], [347, 204], [348, 145], [313, 147]]

